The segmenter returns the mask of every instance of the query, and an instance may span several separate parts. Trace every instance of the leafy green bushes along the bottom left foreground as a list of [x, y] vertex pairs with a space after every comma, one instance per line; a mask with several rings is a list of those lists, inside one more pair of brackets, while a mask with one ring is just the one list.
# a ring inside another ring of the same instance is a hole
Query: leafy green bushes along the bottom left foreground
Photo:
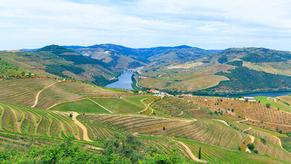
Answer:
[[42, 148], [7, 143], [0, 150], [0, 163], [188, 163], [176, 150], [168, 155], [152, 146], [144, 148], [141, 140], [130, 134], [107, 140], [101, 153], [81, 148], [72, 139]]

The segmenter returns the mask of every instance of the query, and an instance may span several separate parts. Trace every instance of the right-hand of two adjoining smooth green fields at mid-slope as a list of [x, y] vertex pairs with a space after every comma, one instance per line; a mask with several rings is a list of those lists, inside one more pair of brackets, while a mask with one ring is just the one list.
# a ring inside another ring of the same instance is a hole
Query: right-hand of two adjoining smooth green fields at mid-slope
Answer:
[[136, 103], [128, 102], [123, 98], [93, 98], [93, 100], [113, 113], [137, 113], [145, 109], [144, 105], [136, 105]]

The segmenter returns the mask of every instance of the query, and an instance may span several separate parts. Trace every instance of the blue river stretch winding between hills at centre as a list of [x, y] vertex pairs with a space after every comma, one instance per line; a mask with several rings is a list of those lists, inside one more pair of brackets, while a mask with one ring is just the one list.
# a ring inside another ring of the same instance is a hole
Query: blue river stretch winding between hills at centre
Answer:
[[133, 90], [133, 87], [131, 87], [131, 83], [133, 83], [133, 81], [131, 80], [132, 75], [133, 75], [133, 72], [124, 70], [123, 74], [120, 75], [120, 77], [118, 77], [118, 81], [115, 81], [114, 83], [110, 83], [106, 85], [105, 87]]

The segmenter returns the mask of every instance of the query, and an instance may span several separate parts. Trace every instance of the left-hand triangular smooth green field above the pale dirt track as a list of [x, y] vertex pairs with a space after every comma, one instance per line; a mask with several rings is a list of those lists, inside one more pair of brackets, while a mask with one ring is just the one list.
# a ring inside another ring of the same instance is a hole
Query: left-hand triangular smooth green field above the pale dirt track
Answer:
[[88, 98], [82, 100], [76, 100], [72, 102], [63, 102], [55, 107], [52, 107], [52, 111], [76, 111], [77, 113], [109, 113], [92, 100]]

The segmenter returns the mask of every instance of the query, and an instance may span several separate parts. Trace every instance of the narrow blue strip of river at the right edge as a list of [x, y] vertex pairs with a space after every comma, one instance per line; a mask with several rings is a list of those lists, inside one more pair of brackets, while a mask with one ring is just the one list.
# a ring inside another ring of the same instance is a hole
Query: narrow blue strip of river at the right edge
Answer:
[[263, 92], [263, 93], [254, 93], [254, 94], [237, 94], [237, 95], [220, 95], [217, 97], [238, 97], [238, 96], [247, 96], [247, 97], [255, 97], [255, 96], [266, 96], [266, 97], [275, 97], [275, 96], [285, 96], [289, 95], [291, 92]]

